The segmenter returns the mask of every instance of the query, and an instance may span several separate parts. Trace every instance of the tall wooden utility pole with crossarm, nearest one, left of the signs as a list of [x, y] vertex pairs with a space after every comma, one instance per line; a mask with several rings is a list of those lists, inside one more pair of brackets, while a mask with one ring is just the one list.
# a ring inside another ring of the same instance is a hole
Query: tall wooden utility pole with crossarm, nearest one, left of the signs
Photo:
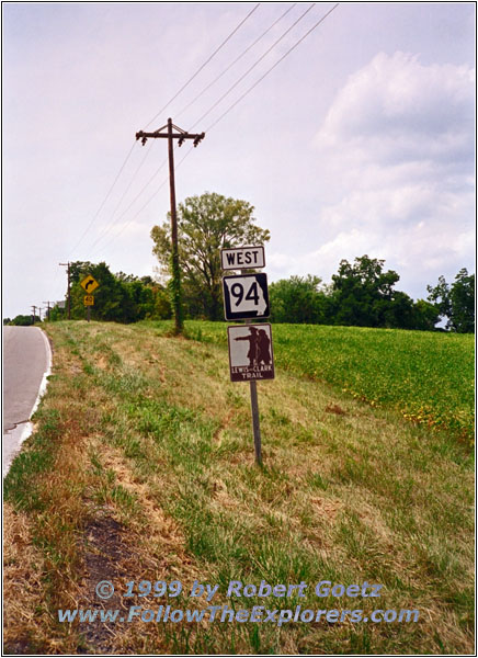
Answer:
[[[161, 133], [164, 131], [166, 133]], [[175, 133], [173, 132], [177, 131]], [[170, 200], [171, 200], [171, 274], [172, 274], [172, 305], [174, 310], [174, 333], [178, 336], [183, 330], [183, 314], [181, 306], [181, 271], [179, 263], [179, 249], [178, 249], [178, 219], [175, 213], [175, 186], [174, 186], [174, 158], [173, 158], [173, 139], [178, 139], [178, 146], [182, 146], [185, 139], [193, 139], [194, 146], [196, 147], [202, 139], [205, 137], [205, 133], [191, 134], [186, 133], [182, 128], [179, 128], [172, 123], [171, 118], [168, 118], [166, 126], [158, 128], [153, 133], [144, 133], [139, 131], [136, 133], [136, 139], [140, 139], [143, 146], [145, 146], [148, 138], [168, 139], [168, 156], [169, 156], [169, 188], [170, 188]]]

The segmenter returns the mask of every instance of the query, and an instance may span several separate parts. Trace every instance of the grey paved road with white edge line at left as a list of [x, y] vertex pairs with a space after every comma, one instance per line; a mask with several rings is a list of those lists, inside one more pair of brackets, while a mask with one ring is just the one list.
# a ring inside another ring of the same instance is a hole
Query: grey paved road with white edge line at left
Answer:
[[3, 477], [32, 431], [29, 420], [46, 386], [50, 361], [49, 343], [41, 329], [3, 328]]

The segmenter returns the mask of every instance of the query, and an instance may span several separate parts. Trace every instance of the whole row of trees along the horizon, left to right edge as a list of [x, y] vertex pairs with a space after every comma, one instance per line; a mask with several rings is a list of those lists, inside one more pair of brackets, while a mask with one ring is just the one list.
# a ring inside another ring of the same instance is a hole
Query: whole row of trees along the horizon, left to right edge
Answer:
[[[269, 230], [255, 224], [253, 206], [216, 193], [186, 198], [178, 207], [178, 238], [184, 317], [223, 320], [220, 249], [264, 245]], [[159, 261], [159, 281], [123, 272], [113, 274], [106, 263], [78, 261], [70, 264], [70, 316], [83, 319], [84, 291], [80, 282], [91, 274], [100, 284], [94, 292], [91, 319], [135, 322], [168, 319], [172, 315], [171, 225], [151, 230], [152, 251]], [[414, 302], [396, 290], [399, 275], [385, 270], [385, 261], [355, 258], [342, 260], [330, 284], [321, 279], [291, 276], [271, 283], [271, 320], [394, 329], [475, 331], [475, 274], [460, 270], [453, 283], [443, 276], [428, 286], [428, 298]], [[56, 306], [50, 320], [64, 319], [67, 309]], [[32, 316], [18, 316], [4, 324], [32, 324]]]

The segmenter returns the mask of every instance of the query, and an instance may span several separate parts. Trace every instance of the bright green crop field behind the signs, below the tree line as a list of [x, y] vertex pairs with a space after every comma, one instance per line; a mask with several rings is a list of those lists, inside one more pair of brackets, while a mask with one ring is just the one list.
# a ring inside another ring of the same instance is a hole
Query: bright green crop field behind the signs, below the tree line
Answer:
[[[186, 331], [194, 340], [227, 345], [224, 322], [187, 321]], [[475, 433], [474, 344], [474, 334], [273, 325], [276, 368], [467, 441]]]

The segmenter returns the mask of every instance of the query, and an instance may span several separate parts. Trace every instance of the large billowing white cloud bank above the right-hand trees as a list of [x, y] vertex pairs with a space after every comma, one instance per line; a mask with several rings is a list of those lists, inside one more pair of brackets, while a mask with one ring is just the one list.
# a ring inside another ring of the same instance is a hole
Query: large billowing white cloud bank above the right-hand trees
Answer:
[[[353, 73], [316, 136], [328, 198], [306, 261], [368, 253], [422, 288], [474, 262], [475, 71], [383, 53]], [[400, 273], [400, 269], [398, 269]]]

